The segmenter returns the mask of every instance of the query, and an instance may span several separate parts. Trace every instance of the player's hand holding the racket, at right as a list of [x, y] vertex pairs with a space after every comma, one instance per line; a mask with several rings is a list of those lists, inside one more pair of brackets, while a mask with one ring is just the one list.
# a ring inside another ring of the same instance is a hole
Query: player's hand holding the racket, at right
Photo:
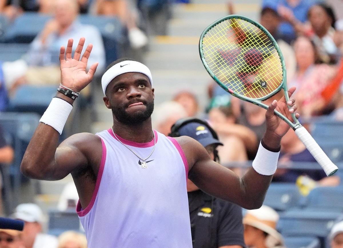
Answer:
[[[297, 104], [295, 104], [295, 99], [291, 97], [295, 90], [296, 87], [291, 87], [288, 90], [289, 100], [287, 102], [285, 96], [283, 96], [279, 101], [274, 100], [265, 114], [267, 131], [280, 139], [287, 133], [289, 125], [274, 114], [274, 109], [293, 122], [292, 113], [295, 113], [298, 108]], [[288, 106], [292, 107], [288, 108]], [[298, 118], [299, 114], [296, 113], [295, 116]]]

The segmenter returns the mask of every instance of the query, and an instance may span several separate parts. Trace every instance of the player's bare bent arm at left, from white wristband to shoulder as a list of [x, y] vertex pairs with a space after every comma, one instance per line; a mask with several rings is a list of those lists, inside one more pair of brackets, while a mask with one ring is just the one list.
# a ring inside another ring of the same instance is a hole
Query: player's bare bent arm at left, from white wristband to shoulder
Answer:
[[54, 128], [39, 123], [25, 151], [22, 173], [35, 179], [59, 180], [74, 170], [96, 165], [96, 160], [101, 159], [101, 139], [96, 135], [75, 134], [59, 147], [58, 139], [59, 133]]

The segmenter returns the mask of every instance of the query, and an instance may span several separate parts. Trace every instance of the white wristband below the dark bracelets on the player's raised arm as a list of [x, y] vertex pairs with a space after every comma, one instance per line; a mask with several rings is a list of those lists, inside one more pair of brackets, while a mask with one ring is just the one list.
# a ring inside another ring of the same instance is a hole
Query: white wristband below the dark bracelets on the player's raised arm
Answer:
[[39, 121], [52, 126], [61, 135], [72, 109], [73, 106], [70, 103], [54, 97]]

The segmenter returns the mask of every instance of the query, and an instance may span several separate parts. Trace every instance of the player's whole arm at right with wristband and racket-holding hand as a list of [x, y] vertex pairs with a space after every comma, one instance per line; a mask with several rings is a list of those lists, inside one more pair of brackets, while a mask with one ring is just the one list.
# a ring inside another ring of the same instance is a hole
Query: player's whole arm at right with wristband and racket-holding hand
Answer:
[[[294, 91], [295, 87], [289, 89], [289, 97]], [[287, 105], [292, 108], [288, 109]], [[281, 138], [289, 129], [287, 123], [274, 115], [275, 109], [287, 116], [289, 120], [293, 120], [291, 113], [296, 111], [297, 105], [292, 97], [288, 102], [283, 97], [279, 102], [274, 100], [269, 105], [266, 112], [267, 130], [253, 161], [253, 167], [248, 169], [242, 178], [212, 161], [200, 143], [185, 136], [179, 137], [179, 143], [185, 152], [190, 168], [189, 179], [210, 195], [247, 209], [261, 207], [276, 170]], [[299, 114], [296, 116], [298, 117]]]

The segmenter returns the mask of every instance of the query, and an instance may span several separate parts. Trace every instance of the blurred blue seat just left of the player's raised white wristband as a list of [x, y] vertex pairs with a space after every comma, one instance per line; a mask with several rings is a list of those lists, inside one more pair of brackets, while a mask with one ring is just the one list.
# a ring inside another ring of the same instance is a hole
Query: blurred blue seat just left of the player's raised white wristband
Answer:
[[56, 92], [57, 86], [23, 85], [15, 92], [8, 109], [13, 112], [35, 112], [43, 115]]

